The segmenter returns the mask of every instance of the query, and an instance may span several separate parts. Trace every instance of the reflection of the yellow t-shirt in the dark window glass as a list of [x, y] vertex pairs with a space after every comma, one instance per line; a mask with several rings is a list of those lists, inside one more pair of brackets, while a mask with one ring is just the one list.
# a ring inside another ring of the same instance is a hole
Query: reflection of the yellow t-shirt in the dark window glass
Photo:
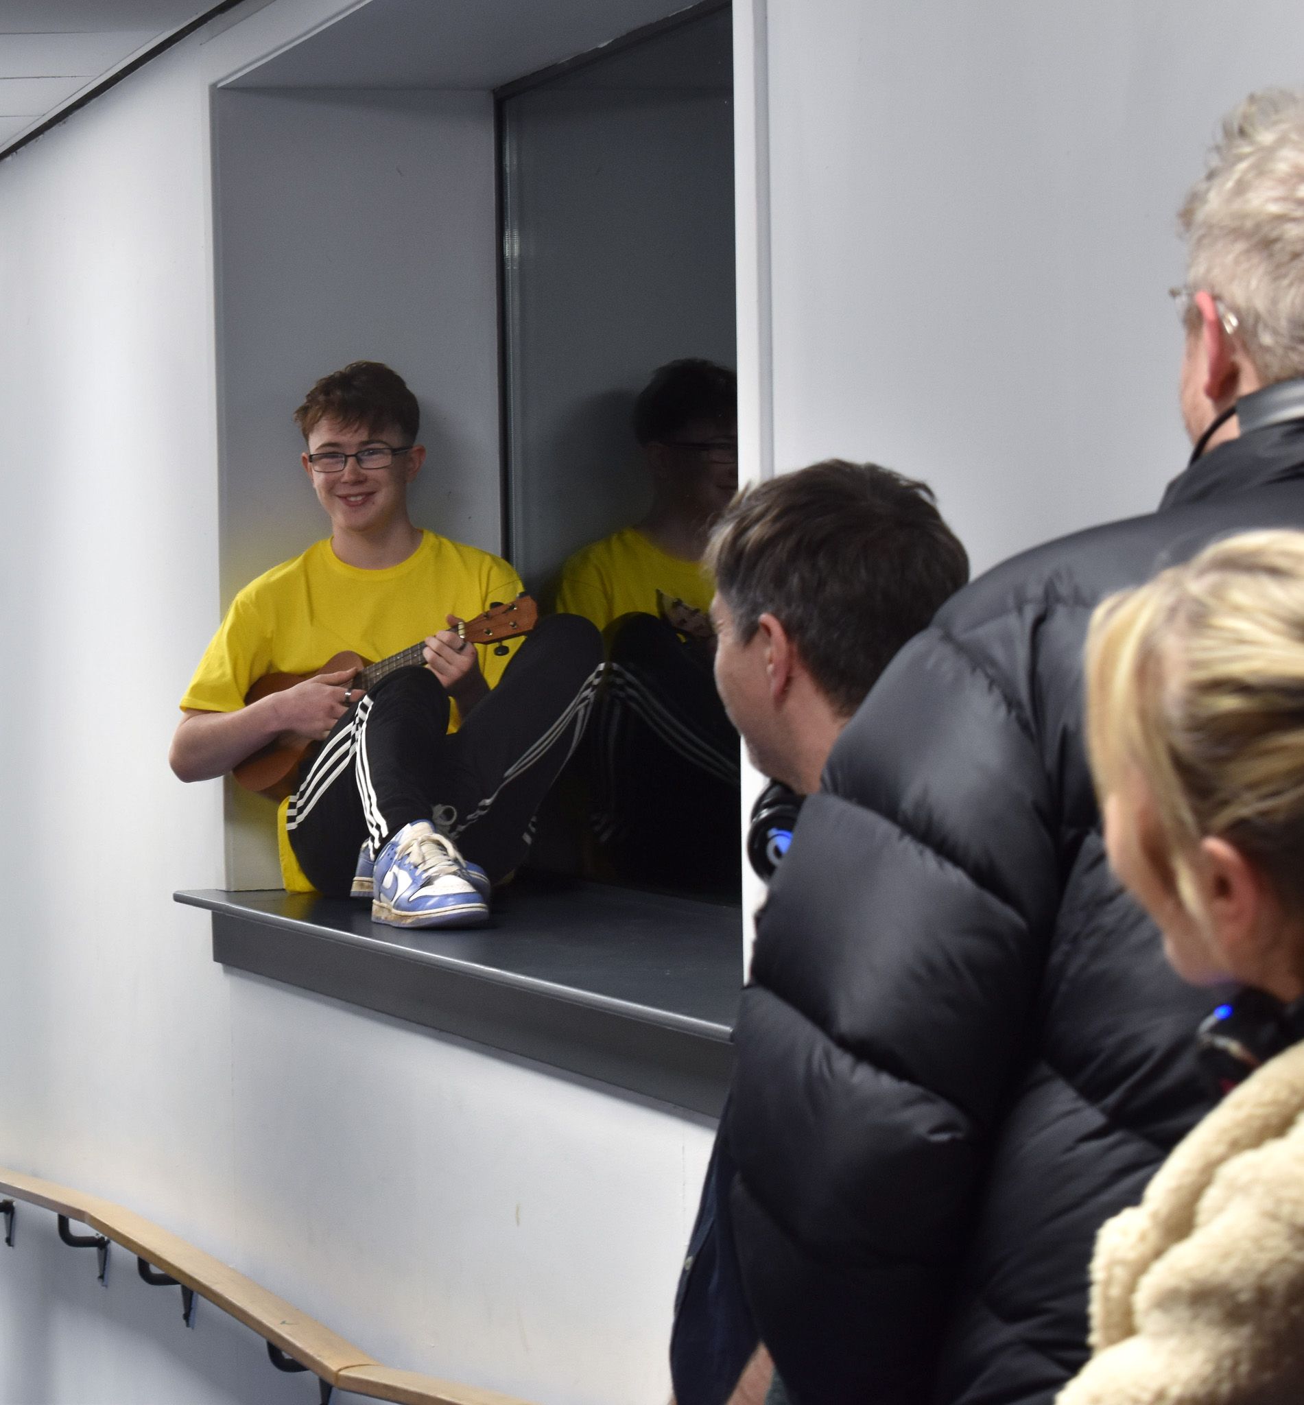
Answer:
[[624, 527], [580, 547], [569, 558], [562, 566], [555, 607], [563, 614], [582, 614], [606, 629], [634, 610], [658, 614], [658, 590], [703, 614], [715, 593], [701, 562], [670, 556], [637, 527]]

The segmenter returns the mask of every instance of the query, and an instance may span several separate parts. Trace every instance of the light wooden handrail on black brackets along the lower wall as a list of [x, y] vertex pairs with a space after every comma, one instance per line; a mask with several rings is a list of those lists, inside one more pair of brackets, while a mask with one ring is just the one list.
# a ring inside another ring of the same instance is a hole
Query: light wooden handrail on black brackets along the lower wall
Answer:
[[253, 1279], [110, 1200], [3, 1168], [0, 1198], [41, 1205], [84, 1224], [176, 1279], [181, 1287], [194, 1290], [282, 1356], [312, 1371], [323, 1383], [323, 1398], [329, 1388], [339, 1388], [400, 1405], [524, 1405], [493, 1391], [382, 1366]]

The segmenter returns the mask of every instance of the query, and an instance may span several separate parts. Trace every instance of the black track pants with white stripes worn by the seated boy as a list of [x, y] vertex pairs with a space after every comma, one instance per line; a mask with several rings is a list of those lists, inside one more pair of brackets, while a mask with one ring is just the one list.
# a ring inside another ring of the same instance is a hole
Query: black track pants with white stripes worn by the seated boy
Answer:
[[600, 676], [597, 629], [552, 615], [451, 736], [448, 694], [429, 669], [382, 679], [340, 718], [289, 801], [289, 844], [309, 881], [347, 894], [361, 844], [375, 856], [415, 819], [433, 819], [493, 882], [504, 878], [526, 857]]

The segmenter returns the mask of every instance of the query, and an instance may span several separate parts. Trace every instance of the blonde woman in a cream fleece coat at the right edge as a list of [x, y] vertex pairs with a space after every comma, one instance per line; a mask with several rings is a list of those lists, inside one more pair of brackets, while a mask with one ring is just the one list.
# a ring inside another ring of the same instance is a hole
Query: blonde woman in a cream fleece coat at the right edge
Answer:
[[1221, 1040], [1249, 1076], [1100, 1231], [1095, 1356], [1058, 1405], [1304, 1401], [1304, 534], [1106, 600], [1086, 681], [1110, 864], [1179, 975], [1256, 992], [1258, 1030]]

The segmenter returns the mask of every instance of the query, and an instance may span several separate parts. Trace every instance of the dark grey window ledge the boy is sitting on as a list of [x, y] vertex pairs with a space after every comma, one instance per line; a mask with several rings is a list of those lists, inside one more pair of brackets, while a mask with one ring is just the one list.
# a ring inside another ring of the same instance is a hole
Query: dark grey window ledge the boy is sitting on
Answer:
[[215, 961], [718, 1116], [734, 1066], [741, 909], [521, 880], [489, 927], [402, 932], [347, 899], [176, 894]]

